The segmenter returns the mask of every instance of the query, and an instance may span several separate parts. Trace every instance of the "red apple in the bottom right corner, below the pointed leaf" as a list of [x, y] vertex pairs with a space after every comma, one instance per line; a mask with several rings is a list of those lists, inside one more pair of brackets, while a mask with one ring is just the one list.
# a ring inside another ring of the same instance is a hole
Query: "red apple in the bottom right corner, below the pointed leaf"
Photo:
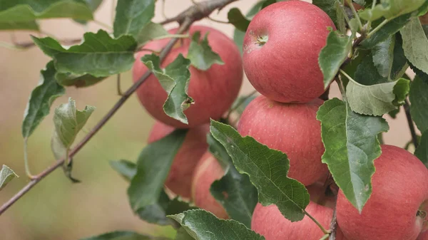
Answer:
[[427, 229], [427, 219], [423, 223], [417, 212], [428, 210], [428, 169], [414, 155], [391, 145], [382, 145], [374, 167], [372, 195], [361, 214], [339, 191], [337, 223], [343, 234], [349, 240], [416, 239]]

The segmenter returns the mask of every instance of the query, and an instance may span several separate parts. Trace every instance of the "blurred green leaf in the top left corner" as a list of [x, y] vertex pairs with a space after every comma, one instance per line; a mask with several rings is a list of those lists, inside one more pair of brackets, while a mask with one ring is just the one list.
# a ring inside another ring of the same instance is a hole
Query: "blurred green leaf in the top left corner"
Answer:
[[92, 11], [82, 1], [0, 1], [0, 23], [32, 22], [36, 19], [73, 18], [92, 20]]

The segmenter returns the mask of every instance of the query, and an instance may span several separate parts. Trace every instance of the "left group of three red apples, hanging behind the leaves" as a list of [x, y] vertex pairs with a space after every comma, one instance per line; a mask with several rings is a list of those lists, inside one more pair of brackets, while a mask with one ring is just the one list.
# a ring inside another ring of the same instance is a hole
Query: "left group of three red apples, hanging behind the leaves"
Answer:
[[[169, 33], [176, 31], [177, 28]], [[210, 47], [224, 64], [214, 64], [207, 71], [190, 66], [188, 95], [195, 103], [184, 111], [188, 125], [164, 113], [163, 103], [168, 95], [154, 75], [146, 80], [142, 88], [138, 88], [137, 95], [143, 107], [157, 120], [148, 137], [148, 143], [160, 140], [176, 128], [188, 128], [185, 140], [165, 179], [165, 187], [173, 194], [192, 199], [196, 206], [225, 219], [228, 214], [210, 194], [210, 185], [223, 177], [224, 170], [208, 152], [206, 139], [210, 131], [210, 118], [220, 119], [238, 97], [243, 82], [243, 61], [235, 42], [224, 33], [207, 26], [192, 26], [189, 34], [193, 35], [197, 31], [202, 37], [208, 33]], [[151, 51], [160, 51], [167, 43], [168, 39], [152, 41], [144, 46], [144, 51], [138, 52], [136, 58], [141, 58]], [[190, 39], [178, 41], [161, 67], [168, 66], [180, 53], [185, 56], [189, 47]], [[141, 61], [136, 61], [133, 66], [133, 80], [137, 81], [147, 70]]]

